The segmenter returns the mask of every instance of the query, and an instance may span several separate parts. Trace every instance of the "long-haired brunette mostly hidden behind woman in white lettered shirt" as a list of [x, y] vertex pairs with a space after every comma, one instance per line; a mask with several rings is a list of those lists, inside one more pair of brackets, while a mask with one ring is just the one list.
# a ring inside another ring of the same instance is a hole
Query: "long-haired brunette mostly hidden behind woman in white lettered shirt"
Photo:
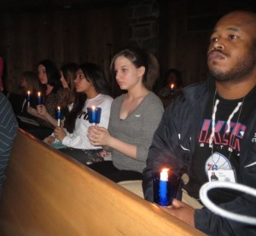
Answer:
[[[73, 104], [76, 95], [76, 89], [74, 85], [74, 80], [76, 78], [76, 72], [78, 71], [79, 66], [76, 63], [67, 63], [61, 66], [61, 84], [63, 89], [61, 89], [61, 101], [58, 104], [61, 108], [61, 117], [66, 118], [69, 112], [69, 106]], [[40, 106], [41, 110], [40, 115], [45, 118], [50, 124], [54, 125], [55, 127], [58, 125], [58, 121], [55, 117], [52, 117], [49, 112], [47, 111], [44, 105]], [[61, 118], [61, 120], [63, 120]], [[61, 126], [63, 126], [61, 124]]]

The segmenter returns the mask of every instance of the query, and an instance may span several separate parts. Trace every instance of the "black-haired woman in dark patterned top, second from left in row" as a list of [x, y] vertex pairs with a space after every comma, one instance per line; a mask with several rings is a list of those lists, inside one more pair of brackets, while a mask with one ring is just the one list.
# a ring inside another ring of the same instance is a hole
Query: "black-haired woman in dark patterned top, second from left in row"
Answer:
[[44, 117], [44, 106], [52, 117], [55, 117], [57, 106], [61, 103], [61, 82], [60, 72], [55, 64], [50, 60], [42, 60], [38, 63], [38, 78], [42, 84], [42, 98], [43, 104], [38, 104], [37, 109], [32, 106], [27, 106], [27, 112], [38, 118], [40, 128], [36, 130], [29, 130], [32, 135], [39, 139], [44, 139], [52, 133], [55, 126], [50, 124]]

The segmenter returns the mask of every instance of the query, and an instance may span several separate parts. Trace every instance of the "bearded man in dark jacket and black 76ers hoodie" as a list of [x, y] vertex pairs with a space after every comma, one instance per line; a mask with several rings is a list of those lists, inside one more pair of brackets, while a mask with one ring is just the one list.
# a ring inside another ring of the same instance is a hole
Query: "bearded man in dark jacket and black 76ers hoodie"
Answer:
[[[152, 173], [170, 168], [187, 174], [166, 211], [210, 235], [255, 235], [253, 225], [184, 204], [181, 193], [198, 202], [210, 173], [256, 188], [256, 14], [236, 11], [215, 26], [207, 52], [211, 78], [192, 84], [166, 109], [143, 171], [145, 199], [153, 201]], [[183, 191], [182, 191], [183, 188]], [[210, 199], [225, 210], [256, 216], [256, 199], [216, 189]]]

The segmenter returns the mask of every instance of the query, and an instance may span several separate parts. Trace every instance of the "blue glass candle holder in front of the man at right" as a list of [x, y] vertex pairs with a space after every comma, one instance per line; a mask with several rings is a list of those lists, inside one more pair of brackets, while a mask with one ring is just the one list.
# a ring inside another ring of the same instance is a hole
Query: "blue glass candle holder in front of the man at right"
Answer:
[[161, 179], [160, 172], [154, 172], [154, 203], [160, 204], [162, 206], [168, 206], [172, 204], [172, 199], [176, 197], [179, 183], [180, 179], [175, 175], [171, 175], [170, 171], [168, 171], [166, 179]]

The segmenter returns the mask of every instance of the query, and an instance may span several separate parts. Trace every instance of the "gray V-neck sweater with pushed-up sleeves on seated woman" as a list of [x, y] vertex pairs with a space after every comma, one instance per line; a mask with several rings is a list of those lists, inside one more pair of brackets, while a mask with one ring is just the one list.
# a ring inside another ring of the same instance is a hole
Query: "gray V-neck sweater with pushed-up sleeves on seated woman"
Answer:
[[108, 130], [113, 137], [136, 145], [137, 158], [129, 158], [113, 149], [113, 165], [119, 170], [135, 170], [142, 173], [164, 107], [159, 97], [149, 92], [139, 106], [127, 118], [121, 120], [120, 110], [123, 99], [124, 95], [120, 95], [112, 103]]

